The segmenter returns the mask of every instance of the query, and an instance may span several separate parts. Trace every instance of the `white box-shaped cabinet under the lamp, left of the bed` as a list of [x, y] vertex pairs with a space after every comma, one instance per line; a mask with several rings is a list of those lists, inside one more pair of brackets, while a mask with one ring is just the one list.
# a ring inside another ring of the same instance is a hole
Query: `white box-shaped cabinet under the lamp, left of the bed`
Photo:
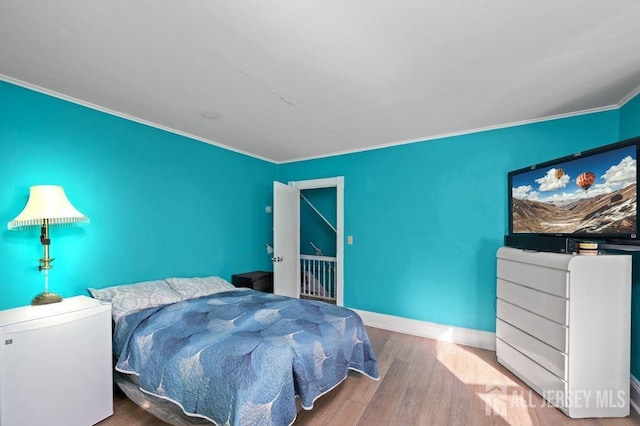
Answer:
[[0, 426], [87, 426], [111, 414], [111, 305], [77, 296], [0, 311]]

